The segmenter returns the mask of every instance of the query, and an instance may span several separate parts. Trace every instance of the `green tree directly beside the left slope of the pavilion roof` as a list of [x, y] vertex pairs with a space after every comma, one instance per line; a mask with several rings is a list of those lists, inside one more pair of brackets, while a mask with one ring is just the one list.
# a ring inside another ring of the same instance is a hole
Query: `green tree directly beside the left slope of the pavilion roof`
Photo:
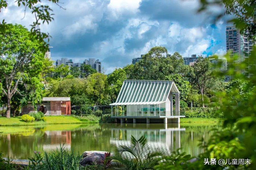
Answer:
[[111, 92], [113, 92], [112, 101], [115, 101], [123, 84], [126, 79], [126, 73], [123, 69], [115, 69], [110, 75], [108, 75], [108, 84], [111, 87]]

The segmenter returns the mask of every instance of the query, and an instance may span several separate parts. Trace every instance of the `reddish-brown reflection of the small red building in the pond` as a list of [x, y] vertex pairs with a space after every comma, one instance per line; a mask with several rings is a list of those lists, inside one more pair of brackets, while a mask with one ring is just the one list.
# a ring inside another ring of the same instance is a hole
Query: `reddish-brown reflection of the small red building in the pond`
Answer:
[[63, 143], [66, 149], [71, 148], [71, 131], [45, 131], [45, 137], [50, 141], [43, 145], [44, 150], [59, 149]]

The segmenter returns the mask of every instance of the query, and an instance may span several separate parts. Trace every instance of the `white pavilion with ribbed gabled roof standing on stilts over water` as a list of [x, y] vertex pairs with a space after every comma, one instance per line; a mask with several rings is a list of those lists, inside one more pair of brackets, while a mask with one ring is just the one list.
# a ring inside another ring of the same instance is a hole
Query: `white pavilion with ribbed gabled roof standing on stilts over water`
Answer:
[[[121, 123], [179, 123], [179, 90], [173, 81], [124, 80], [112, 117]], [[175, 111], [173, 111], [175, 96]]]

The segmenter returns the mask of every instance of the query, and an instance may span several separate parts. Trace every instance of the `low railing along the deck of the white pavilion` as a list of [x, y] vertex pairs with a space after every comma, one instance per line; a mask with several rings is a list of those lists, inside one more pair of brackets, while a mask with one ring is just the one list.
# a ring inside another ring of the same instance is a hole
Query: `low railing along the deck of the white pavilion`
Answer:
[[182, 116], [184, 111], [139, 111], [139, 112], [112, 112], [112, 116]]

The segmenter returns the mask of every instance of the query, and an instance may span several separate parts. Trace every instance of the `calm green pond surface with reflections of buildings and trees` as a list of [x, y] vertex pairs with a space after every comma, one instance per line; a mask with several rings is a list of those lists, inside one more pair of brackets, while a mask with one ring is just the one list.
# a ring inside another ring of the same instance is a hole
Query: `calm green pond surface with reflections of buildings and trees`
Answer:
[[[17, 127], [18, 128], [18, 127]], [[129, 145], [133, 135], [147, 137], [151, 147], [166, 148], [170, 152], [182, 148], [196, 156], [203, 150], [199, 140], [207, 141], [215, 123], [197, 124], [65, 124], [35, 127], [34, 131], [0, 135], [0, 152], [14, 159], [27, 159], [34, 151], [52, 151], [65, 147], [82, 153], [89, 150], [110, 151], [118, 145]]]

